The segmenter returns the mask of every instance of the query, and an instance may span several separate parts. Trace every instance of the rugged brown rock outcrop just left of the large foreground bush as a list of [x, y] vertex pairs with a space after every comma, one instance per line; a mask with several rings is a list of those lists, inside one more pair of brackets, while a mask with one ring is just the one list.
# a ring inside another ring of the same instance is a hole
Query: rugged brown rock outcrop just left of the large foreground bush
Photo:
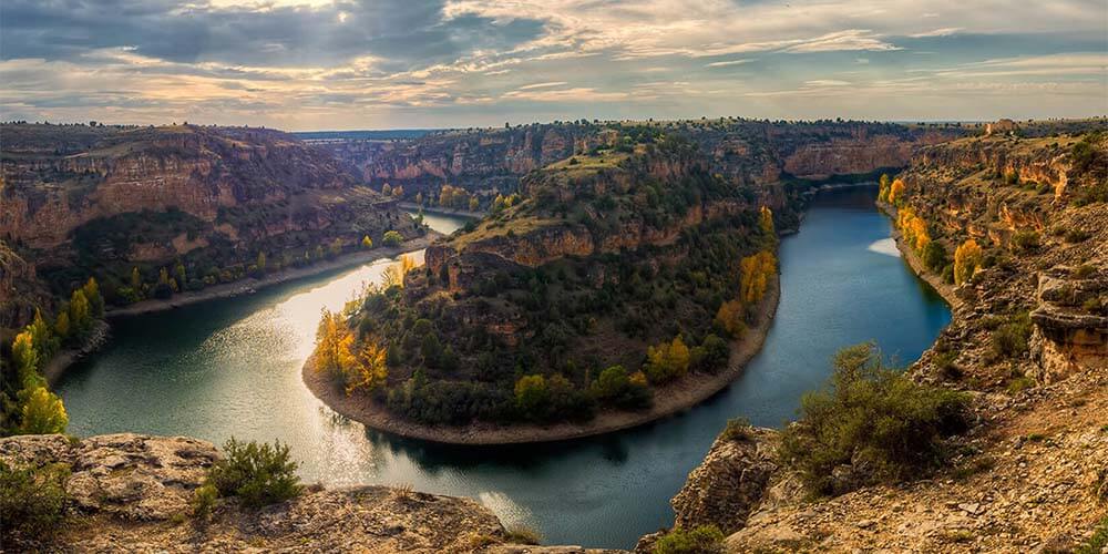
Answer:
[[741, 437], [720, 437], [669, 504], [674, 526], [715, 525], [725, 534], [746, 524], [778, 470], [777, 431], [751, 429]]

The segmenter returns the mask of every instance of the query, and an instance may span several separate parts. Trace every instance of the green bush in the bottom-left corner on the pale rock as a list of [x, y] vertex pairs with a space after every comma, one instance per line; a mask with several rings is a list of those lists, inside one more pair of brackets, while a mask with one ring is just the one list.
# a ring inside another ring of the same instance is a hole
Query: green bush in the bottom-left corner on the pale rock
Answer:
[[0, 543], [53, 536], [64, 517], [70, 470], [62, 464], [13, 466], [0, 461]]

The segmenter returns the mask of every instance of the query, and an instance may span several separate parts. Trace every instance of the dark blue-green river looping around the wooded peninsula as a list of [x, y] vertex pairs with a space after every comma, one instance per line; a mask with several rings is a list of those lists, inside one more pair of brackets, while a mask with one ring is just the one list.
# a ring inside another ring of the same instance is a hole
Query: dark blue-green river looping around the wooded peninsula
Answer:
[[[306, 482], [411, 484], [472, 496], [548, 544], [634, 546], [673, 522], [669, 499], [729, 418], [780, 425], [830, 373], [845, 345], [875, 340], [904, 363], [950, 321], [942, 299], [899, 257], [875, 191], [821, 193], [781, 240], [781, 302], [762, 351], [731, 387], [681, 414], [553, 444], [459, 448], [367, 430], [300, 381], [319, 310], [339, 309], [394, 260], [255, 295], [113, 321], [98, 355], [58, 382], [70, 432], [183, 434], [291, 445]], [[464, 220], [428, 215], [450, 233]], [[422, 260], [422, 252], [416, 253]]]

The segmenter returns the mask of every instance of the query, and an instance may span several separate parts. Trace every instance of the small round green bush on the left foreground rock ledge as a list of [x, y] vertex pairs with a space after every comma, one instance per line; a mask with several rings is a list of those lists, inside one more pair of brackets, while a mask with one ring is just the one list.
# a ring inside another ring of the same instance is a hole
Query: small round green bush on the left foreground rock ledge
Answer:
[[238, 496], [243, 505], [259, 507], [284, 502], [300, 494], [299, 464], [289, 460], [288, 445], [275, 441], [240, 443], [234, 438], [224, 444], [227, 458], [208, 471], [208, 484], [222, 496]]

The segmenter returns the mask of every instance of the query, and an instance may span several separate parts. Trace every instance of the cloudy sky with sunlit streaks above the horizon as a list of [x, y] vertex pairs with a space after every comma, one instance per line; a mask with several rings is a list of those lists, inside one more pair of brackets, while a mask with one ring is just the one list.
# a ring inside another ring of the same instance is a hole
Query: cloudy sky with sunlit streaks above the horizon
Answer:
[[1108, 114], [1105, 0], [3, 0], [0, 120]]

